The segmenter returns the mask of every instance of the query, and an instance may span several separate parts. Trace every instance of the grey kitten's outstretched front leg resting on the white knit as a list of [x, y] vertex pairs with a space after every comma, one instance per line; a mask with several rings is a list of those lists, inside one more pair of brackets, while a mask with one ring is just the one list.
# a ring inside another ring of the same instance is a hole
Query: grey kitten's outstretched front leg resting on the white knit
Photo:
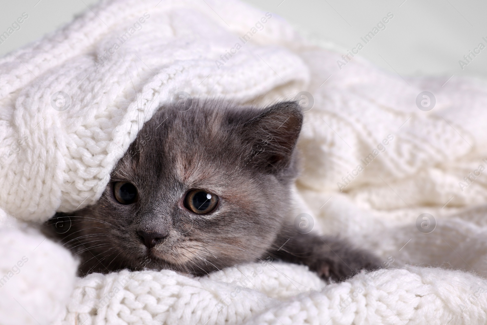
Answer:
[[291, 227], [281, 231], [269, 254], [282, 261], [307, 265], [324, 279], [343, 281], [361, 269], [381, 268], [373, 254], [353, 248], [333, 237], [300, 233]]

